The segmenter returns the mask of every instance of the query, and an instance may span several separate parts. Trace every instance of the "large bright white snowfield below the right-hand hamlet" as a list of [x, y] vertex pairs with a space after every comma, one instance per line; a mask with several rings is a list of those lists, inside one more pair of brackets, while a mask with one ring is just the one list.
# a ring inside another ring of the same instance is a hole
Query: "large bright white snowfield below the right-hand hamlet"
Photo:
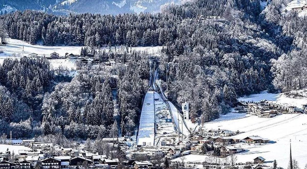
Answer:
[[[251, 162], [254, 158], [262, 156], [268, 162], [276, 159], [279, 167], [286, 168], [289, 161], [289, 143], [291, 139], [293, 159], [298, 161], [301, 168], [305, 166], [307, 163], [306, 114], [284, 114], [274, 118], [246, 116], [245, 114], [237, 115], [229, 113], [229, 115], [222, 116], [220, 119], [205, 123], [204, 127], [207, 129], [239, 130], [243, 133], [234, 136], [234, 138], [238, 139], [258, 135], [271, 140], [271, 143], [266, 145], [238, 144], [236, 147], [243, 147], [247, 151], [237, 154], [237, 162]], [[237, 119], [234, 119], [235, 117]], [[175, 160], [180, 161], [180, 159]], [[188, 155], [185, 161], [203, 162], [206, 161], [206, 156]], [[271, 163], [267, 164], [271, 165]]]

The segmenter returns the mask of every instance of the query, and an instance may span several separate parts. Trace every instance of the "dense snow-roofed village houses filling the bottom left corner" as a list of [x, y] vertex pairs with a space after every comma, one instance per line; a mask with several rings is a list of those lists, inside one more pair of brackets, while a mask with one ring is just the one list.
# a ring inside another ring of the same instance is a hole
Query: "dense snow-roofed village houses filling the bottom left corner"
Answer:
[[[125, 168], [147, 169], [154, 168], [150, 161], [136, 161], [129, 159], [119, 161], [117, 158], [107, 158], [106, 155], [99, 155], [86, 151], [83, 148], [64, 148], [52, 143], [35, 142], [32, 140], [9, 140], [13, 145], [24, 145], [29, 148], [19, 150], [14, 157], [7, 154], [0, 154], [1, 169], [16, 168], [117, 168], [119, 165]], [[124, 137], [104, 138], [105, 143], [116, 143], [117, 145], [127, 141]], [[152, 152], [152, 155], [158, 155]], [[58, 154], [59, 156], [53, 156]], [[160, 155], [160, 154], [159, 154]]]

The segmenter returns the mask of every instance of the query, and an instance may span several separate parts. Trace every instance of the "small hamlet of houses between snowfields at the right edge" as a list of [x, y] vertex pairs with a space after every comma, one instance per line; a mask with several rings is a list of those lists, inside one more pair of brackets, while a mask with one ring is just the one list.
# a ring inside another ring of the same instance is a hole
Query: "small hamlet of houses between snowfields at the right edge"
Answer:
[[274, 117], [282, 113], [307, 113], [307, 104], [297, 108], [289, 104], [280, 104], [276, 101], [261, 100], [260, 102], [239, 102], [234, 108], [236, 113], [249, 113], [259, 117]]

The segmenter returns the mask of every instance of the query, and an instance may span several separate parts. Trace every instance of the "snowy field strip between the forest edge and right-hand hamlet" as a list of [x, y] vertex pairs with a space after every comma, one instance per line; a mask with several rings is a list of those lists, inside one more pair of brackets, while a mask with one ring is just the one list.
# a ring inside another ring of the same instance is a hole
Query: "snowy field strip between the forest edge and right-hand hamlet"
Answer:
[[302, 107], [302, 104], [307, 104], [307, 97], [305, 98], [290, 98], [289, 96], [286, 96], [286, 93], [268, 93], [267, 91], [263, 91], [260, 94], [252, 94], [246, 97], [241, 97], [238, 100], [239, 101], [250, 101], [250, 102], [257, 102], [260, 100], [269, 100], [269, 101], [276, 101], [277, 103], [287, 103], [293, 106], [296, 106], [298, 108]]

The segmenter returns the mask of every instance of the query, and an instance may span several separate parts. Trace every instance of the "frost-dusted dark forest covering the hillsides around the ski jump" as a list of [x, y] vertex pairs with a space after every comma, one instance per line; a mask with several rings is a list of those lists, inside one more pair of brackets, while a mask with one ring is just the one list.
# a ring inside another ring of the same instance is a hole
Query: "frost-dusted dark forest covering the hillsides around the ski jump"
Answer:
[[[119, 135], [135, 128], [150, 67], [146, 53], [130, 46], [165, 46], [157, 56], [160, 78], [166, 81], [167, 68], [169, 98], [177, 105], [188, 101], [194, 122], [227, 113], [238, 96], [304, 89], [307, 18], [283, 15], [286, 3], [273, 0], [262, 11], [258, 0], [195, 0], [164, 6], [158, 14], [2, 15], [11, 38], [86, 45], [95, 57], [118, 64], [111, 70], [86, 67], [69, 79], [45, 59], [6, 59], [0, 67], [0, 132], [95, 139], [109, 136], [114, 126]], [[95, 52], [106, 45], [126, 47]]]

